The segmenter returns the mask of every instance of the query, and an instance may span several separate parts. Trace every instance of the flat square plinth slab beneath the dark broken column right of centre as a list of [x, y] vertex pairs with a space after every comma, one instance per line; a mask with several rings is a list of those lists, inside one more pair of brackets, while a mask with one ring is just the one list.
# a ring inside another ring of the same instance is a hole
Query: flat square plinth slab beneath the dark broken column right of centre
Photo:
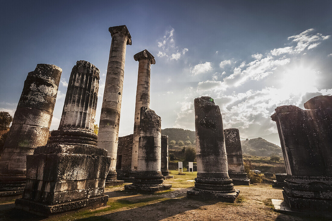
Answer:
[[234, 201], [239, 196], [240, 191], [235, 189], [235, 192], [231, 193], [223, 193], [218, 191], [208, 191], [208, 190], [201, 190], [197, 188], [193, 188], [187, 190], [187, 197], [189, 198], [200, 198], [200, 199], [216, 199], [221, 202], [230, 202], [234, 203]]

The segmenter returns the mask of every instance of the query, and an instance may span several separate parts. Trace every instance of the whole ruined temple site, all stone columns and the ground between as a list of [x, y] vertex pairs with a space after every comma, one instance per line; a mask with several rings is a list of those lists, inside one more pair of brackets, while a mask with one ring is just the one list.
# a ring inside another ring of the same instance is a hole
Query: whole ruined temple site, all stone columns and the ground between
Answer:
[[[109, 33], [102, 99], [100, 70], [78, 60], [57, 130], [50, 132], [50, 124], [62, 69], [37, 64], [28, 73], [0, 158], [0, 219], [332, 219], [332, 96], [313, 96], [305, 110], [275, 107], [270, 120], [278, 129], [286, 173], [265, 173], [275, 177], [272, 185], [250, 178], [239, 129], [224, 128], [214, 98], [193, 97], [197, 171], [180, 172], [169, 168], [169, 136], [150, 109], [157, 52], [126, 53], [132, 41], [125, 25]], [[119, 137], [125, 58], [132, 57], [138, 61], [133, 133]]]

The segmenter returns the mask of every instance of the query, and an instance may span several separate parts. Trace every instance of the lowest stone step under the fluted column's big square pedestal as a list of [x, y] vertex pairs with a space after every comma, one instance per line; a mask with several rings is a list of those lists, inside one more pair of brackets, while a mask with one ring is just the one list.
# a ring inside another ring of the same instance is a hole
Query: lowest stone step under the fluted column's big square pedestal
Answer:
[[41, 216], [51, 216], [71, 210], [78, 209], [93, 209], [101, 206], [106, 206], [108, 201], [108, 195], [82, 199], [77, 201], [71, 201], [66, 203], [61, 203], [57, 205], [46, 205], [26, 199], [16, 199], [15, 207], [28, 211], [30, 213], [35, 213]]

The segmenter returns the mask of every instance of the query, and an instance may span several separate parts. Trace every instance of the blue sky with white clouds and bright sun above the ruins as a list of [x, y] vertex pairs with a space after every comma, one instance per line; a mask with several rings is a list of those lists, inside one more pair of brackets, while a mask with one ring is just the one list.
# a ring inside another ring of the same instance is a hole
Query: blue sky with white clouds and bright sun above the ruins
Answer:
[[0, 9], [0, 111], [15, 112], [38, 63], [62, 68], [51, 129], [57, 129], [72, 67], [100, 69], [97, 123], [111, 43], [126, 25], [120, 136], [132, 133], [138, 62], [147, 49], [150, 108], [162, 128], [194, 130], [193, 101], [211, 96], [224, 128], [241, 137], [276, 133], [277, 106], [332, 94], [331, 1], [7, 1]]

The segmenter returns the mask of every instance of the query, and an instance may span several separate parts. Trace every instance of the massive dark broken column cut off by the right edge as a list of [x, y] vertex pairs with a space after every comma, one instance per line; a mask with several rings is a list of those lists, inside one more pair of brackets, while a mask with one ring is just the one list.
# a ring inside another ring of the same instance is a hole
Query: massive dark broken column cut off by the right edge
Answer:
[[276, 121], [287, 171], [283, 195], [291, 210], [320, 215], [332, 211], [332, 96], [277, 107]]

